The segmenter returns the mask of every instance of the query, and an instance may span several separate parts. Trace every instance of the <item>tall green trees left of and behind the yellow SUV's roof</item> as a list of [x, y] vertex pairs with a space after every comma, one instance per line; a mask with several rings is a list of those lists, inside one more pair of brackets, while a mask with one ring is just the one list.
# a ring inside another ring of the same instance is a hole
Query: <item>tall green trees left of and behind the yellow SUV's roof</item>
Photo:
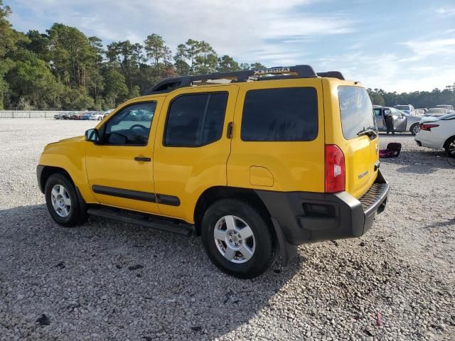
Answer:
[[144, 43], [105, 45], [77, 28], [54, 23], [45, 33], [21, 33], [0, 0], [0, 109], [110, 109], [159, 80], [265, 67], [218, 55], [205, 41], [188, 39], [175, 53], [156, 33]]

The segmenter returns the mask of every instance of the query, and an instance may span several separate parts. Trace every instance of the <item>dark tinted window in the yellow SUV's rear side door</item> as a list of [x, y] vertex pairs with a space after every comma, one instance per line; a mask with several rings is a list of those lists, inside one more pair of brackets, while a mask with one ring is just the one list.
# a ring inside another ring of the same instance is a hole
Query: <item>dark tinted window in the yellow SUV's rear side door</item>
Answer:
[[185, 94], [169, 106], [164, 146], [198, 147], [223, 134], [228, 92]]

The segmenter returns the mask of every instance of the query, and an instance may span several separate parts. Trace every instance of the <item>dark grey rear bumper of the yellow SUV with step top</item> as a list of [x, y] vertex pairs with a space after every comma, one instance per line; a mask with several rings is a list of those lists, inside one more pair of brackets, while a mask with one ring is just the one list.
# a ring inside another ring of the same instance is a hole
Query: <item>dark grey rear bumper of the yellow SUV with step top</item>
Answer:
[[[328, 239], [360, 237], [385, 209], [389, 184], [378, 178], [360, 200], [347, 192], [309, 193], [257, 190], [284, 239], [299, 245]], [[277, 228], [277, 227], [275, 227]]]

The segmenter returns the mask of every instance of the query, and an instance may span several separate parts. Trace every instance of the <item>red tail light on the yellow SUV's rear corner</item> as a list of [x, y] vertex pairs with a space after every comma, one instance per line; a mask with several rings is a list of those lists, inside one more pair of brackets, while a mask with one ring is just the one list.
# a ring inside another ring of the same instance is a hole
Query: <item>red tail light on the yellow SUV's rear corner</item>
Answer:
[[341, 192], [346, 189], [346, 166], [344, 154], [335, 144], [326, 144], [326, 193]]

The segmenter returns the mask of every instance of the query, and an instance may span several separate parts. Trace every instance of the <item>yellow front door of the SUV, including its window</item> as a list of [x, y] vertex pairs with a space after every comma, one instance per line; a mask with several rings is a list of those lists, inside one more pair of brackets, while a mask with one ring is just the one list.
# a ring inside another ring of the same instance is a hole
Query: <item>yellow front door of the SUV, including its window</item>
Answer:
[[99, 142], [87, 142], [90, 188], [103, 205], [156, 213], [154, 136], [160, 99], [124, 104], [99, 128]]

